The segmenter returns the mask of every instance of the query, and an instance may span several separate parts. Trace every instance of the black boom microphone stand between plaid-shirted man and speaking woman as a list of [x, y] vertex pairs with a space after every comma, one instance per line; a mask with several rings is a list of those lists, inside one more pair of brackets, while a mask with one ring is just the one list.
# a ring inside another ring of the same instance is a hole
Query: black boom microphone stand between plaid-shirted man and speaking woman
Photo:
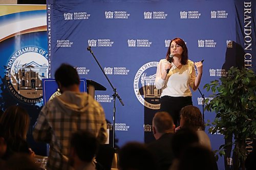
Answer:
[[95, 61], [97, 62], [97, 64], [99, 65], [101, 71], [103, 72], [106, 80], [108, 80], [110, 86], [112, 87], [113, 91], [114, 91], [114, 94], [112, 95], [113, 96], [113, 102], [114, 102], [114, 107], [113, 107], [113, 148], [115, 149], [115, 117], [116, 117], [116, 97], [119, 99], [119, 102], [121, 103], [122, 106], [124, 106], [123, 102], [122, 102], [122, 99], [120, 98], [120, 96], [118, 95], [118, 93], [116, 92], [116, 88], [114, 88], [114, 86], [112, 85], [112, 83], [110, 82], [108, 76], [106, 76], [103, 68], [101, 67], [100, 63], [98, 62], [98, 60], [96, 59], [96, 57], [94, 56], [93, 54], [93, 51], [91, 50], [91, 46], [88, 46], [87, 47], [87, 50], [90, 51], [90, 53], [92, 54], [92, 56], [94, 57]]

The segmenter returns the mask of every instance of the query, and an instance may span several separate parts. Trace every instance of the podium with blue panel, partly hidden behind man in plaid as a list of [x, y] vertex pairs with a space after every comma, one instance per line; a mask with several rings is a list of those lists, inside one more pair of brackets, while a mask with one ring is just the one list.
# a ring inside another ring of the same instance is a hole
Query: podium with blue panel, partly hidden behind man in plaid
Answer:
[[[61, 94], [57, 89], [58, 84], [55, 79], [42, 79], [42, 94], [44, 105], [49, 100]], [[81, 92], [87, 92], [94, 98], [95, 90], [105, 91], [106, 88], [93, 80], [80, 79], [79, 90]]]

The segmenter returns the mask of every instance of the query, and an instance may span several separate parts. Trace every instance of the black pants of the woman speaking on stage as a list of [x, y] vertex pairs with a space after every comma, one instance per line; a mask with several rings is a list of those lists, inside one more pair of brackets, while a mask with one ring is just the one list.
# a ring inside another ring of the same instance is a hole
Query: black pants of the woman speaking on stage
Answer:
[[191, 96], [172, 97], [162, 96], [160, 110], [168, 112], [174, 120], [175, 127], [180, 125], [180, 110], [184, 106], [193, 105]]

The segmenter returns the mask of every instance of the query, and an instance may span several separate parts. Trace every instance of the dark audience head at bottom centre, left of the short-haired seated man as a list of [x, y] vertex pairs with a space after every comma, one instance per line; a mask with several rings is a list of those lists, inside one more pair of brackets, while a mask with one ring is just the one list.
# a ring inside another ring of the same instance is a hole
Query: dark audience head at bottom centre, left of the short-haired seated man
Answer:
[[126, 143], [119, 151], [119, 170], [155, 170], [155, 160], [142, 143]]

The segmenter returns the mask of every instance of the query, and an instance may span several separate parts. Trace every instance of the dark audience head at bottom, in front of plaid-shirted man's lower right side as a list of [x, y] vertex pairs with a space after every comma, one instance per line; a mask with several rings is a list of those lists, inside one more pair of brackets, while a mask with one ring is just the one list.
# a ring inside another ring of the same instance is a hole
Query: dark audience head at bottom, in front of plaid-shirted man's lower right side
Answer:
[[70, 140], [69, 162], [75, 170], [95, 170], [94, 158], [99, 148], [95, 135], [87, 131], [75, 132]]

